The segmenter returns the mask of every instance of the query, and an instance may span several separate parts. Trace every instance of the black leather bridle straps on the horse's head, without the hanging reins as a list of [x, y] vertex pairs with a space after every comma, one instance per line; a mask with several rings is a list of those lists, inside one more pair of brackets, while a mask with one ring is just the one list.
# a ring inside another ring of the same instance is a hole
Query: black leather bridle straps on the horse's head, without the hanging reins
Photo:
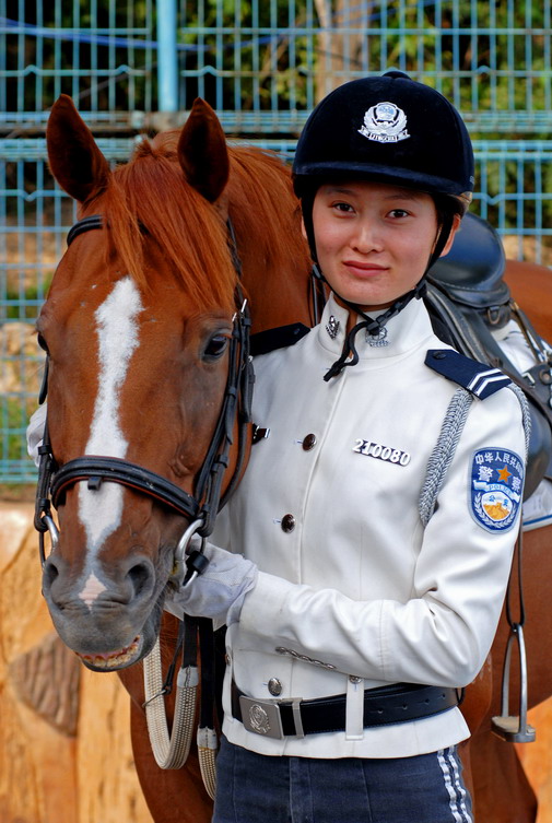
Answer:
[[[92, 214], [78, 221], [69, 231], [68, 246], [83, 232], [105, 228], [101, 214]], [[247, 432], [251, 421], [252, 364], [249, 356], [250, 317], [247, 301], [244, 301], [239, 283], [242, 267], [236, 249], [236, 239], [230, 219], [227, 221], [228, 245], [233, 264], [238, 275], [236, 285], [236, 311], [233, 317], [228, 350], [228, 372], [219, 420], [198, 472], [195, 493], [190, 494], [171, 480], [150, 469], [116, 457], [85, 455], [58, 467], [52, 454], [46, 420], [43, 443], [38, 448], [39, 466], [36, 490], [34, 525], [39, 533], [40, 562], [46, 561], [44, 536], [48, 531], [52, 550], [59, 539], [59, 530], [52, 518], [51, 506], [62, 505], [67, 490], [74, 483], [86, 481], [90, 490], [98, 490], [104, 482], [120, 483], [128, 489], [145, 494], [187, 518], [189, 526], [180, 538], [174, 557], [173, 579], [183, 583], [186, 575], [185, 553], [191, 537], [197, 532], [207, 538], [214, 527], [218, 512], [234, 490], [247, 450]], [[46, 360], [39, 402], [44, 402], [48, 383], [48, 357]], [[230, 450], [234, 442], [237, 422], [237, 459], [232, 478], [222, 494], [223, 475], [230, 463]], [[196, 571], [188, 569], [188, 577]]]

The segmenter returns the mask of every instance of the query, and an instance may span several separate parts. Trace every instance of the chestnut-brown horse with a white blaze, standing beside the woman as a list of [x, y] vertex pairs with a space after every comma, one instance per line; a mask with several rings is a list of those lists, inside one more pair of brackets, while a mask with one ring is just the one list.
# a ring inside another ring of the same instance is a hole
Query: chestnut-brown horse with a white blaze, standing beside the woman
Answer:
[[[138, 465], [193, 498], [223, 402], [227, 341], [240, 314], [236, 292], [250, 301], [255, 331], [312, 324], [297, 203], [283, 164], [252, 149], [228, 149], [202, 102], [180, 133], [145, 140], [114, 172], [68, 97], [52, 108], [47, 142], [52, 174], [79, 201], [80, 221], [37, 324], [49, 352], [51, 452], [62, 470], [72, 467], [57, 496], [60, 533], [45, 562], [44, 593], [62, 639], [89, 668], [119, 671], [131, 695], [136, 764], [156, 823], [207, 823], [212, 804], [196, 753], [178, 771], [161, 771], [153, 760], [139, 662], [160, 631], [186, 517], [163, 494], [160, 502], [145, 493], [138, 470], [129, 484], [104, 483], [79, 473], [78, 460], [101, 455], [110, 461], [106, 471], [118, 461]], [[516, 294], [515, 278], [513, 269]], [[541, 332], [552, 338], [552, 328]], [[235, 447], [230, 458], [232, 470]], [[526, 539], [531, 703], [552, 691], [551, 640], [540, 622], [548, 531]], [[498, 714], [503, 624], [492, 661], [468, 690], [473, 738], [465, 759], [481, 821], [531, 823], [535, 799], [515, 750], [489, 730]], [[168, 662], [175, 634], [168, 615], [161, 633]]]

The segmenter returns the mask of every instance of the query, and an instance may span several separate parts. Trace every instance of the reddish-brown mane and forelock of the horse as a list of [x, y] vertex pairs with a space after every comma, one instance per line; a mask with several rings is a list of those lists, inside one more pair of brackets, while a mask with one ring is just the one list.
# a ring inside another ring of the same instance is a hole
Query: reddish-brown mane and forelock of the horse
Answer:
[[[99, 195], [110, 230], [109, 251], [116, 251], [125, 269], [146, 287], [143, 242], [153, 239], [195, 305], [232, 307], [236, 272], [227, 228], [219, 210], [186, 181], [177, 140], [176, 130], [144, 139], [131, 160], [114, 171]], [[297, 223], [292, 225], [296, 201], [283, 164], [251, 148], [234, 146], [228, 153], [228, 212], [238, 248], [247, 244], [260, 270], [269, 260], [278, 271], [294, 254], [296, 242], [301, 260], [304, 247]]]

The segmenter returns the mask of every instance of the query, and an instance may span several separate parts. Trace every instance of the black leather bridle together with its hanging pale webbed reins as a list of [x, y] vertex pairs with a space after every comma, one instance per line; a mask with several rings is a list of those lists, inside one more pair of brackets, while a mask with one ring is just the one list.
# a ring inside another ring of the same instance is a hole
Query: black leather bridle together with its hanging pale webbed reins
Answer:
[[[196, 477], [193, 494], [180, 489], [171, 480], [139, 466], [116, 457], [84, 455], [69, 460], [59, 467], [56, 462], [48, 434], [48, 419], [44, 426], [43, 443], [38, 448], [39, 467], [36, 490], [35, 528], [39, 533], [40, 561], [46, 562], [44, 539], [48, 531], [51, 539], [51, 550], [55, 551], [59, 531], [51, 514], [51, 507], [62, 505], [68, 489], [74, 483], [85, 481], [90, 490], [98, 490], [104, 482], [120, 483], [186, 518], [188, 525], [180, 537], [173, 557], [172, 581], [176, 586], [186, 585], [196, 575], [201, 574], [208, 565], [203, 554], [207, 537], [214, 527], [218, 512], [232, 494], [242, 474], [245, 457], [249, 444], [249, 424], [251, 422], [251, 395], [254, 371], [249, 355], [250, 317], [247, 301], [244, 301], [240, 286], [242, 266], [237, 254], [236, 238], [231, 221], [227, 221], [227, 238], [232, 261], [236, 271], [235, 305], [232, 321], [232, 334], [228, 346], [228, 371], [221, 411], [214, 427], [211, 443], [203, 463]], [[67, 238], [68, 246], [83, 232], [105, 228], [106, 224], [101, 214], [93, 214], [78, 221], [70, 230]], [[46, 358], [43, 386], [39, 402], [46, 399], [48, 387], [48, 357]], [[233, 473], [226, 484], [224, 493], [223, 479], [230, 465], [230, 452], [234, 444], [237, 430], [237, 455]], [[193, 534], [201, 537], [201, 546], [195, 549], [187, 556], [187, 549]], [[201, 716], [198, 729], [198, 755], [203, 781], [211, 797], [212, 776], [214, 775], [215, 739], [213, 724], [209, 714], [213, 712], [212, 683], [212, 632], [207, 624], [210, 621], [187, 618], [179, 624], [178, 643], [174, 652], [173, 663], [163, 682], [161, 672], [160, 639], [152, 651], [144, 658], [144, 693], [143, 704], [150, 741], [157, 765], [161, 768], [179, 768], [188, 756], [191, 729], [196, 710], [196, 687], [198, 682], [198, 667], [196, 661], [198, 635], [201, 645]], [[184, 644], [184, 646], [183, 646]], [[176, 672], [176, 661], [184, 647], [181, 667], [176, 681], [176, 699], [171, 734], [168, 733], [164, 702], [158, 699], [173, 689], [173, 678]]]

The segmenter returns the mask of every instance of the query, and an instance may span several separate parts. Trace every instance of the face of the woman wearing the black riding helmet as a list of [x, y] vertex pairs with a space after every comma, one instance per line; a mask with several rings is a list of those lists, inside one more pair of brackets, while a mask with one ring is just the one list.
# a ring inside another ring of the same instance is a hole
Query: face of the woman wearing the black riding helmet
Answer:
[[369, 311], [391, 305], [420, 281], [437, 239], [437, 212], [430, 195], [398, 186], [328, 184], [316, 192], [313, 226], [326, 280]]

